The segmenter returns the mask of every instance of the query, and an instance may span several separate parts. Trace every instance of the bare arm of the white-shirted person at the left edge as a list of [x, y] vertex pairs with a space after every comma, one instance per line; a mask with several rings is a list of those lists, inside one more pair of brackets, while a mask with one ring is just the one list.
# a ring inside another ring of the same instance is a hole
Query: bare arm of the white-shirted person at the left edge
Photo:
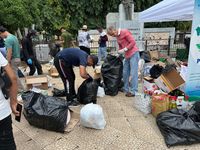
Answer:
[[11, 106], [13, 114], [18, 116], [19, 112], [16, 110], [17, 109], [17, 77], [15, 73], [13, 72], [10, 64], [7, 64], [4, 67], [4, 70], [6, 71], [12, 83], [10, 87], [10, 106]]

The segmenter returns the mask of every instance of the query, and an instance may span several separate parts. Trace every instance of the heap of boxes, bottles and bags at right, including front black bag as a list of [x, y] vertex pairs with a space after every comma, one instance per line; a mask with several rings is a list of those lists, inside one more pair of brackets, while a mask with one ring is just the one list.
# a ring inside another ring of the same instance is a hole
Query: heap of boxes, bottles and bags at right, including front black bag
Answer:
[[142, 94], [134, 107], [156, 118], [168, 147], [199, 143], [200, 102], [190, 102], [184, 93], [187, 64], [158, 51], [142, 55]]

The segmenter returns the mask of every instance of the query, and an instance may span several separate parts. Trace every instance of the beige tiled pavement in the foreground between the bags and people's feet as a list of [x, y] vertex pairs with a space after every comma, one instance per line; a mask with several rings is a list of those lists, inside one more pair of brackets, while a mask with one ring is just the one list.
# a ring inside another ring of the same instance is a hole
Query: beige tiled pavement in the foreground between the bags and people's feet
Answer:
[[[83, 81], [78, 77], [76, 87]], [[91, 72], [91, 70], [89, 70]], [[51, 80], [62, 88], [61, 80]], [[22, 116], [21, 123], [13, 120], [18, 150], [166, 150], [164, 140], [152, 115], [143, 115], [133, 106], [134, 98], [123, 93], [115, 97], [98, 98], [107, 122], [104, 130], [81, 127], [79, 124], [68, 134], [50, 132], [30, 126]], [[199, 150], [200, 144], [177, 146], [172, 150]]]

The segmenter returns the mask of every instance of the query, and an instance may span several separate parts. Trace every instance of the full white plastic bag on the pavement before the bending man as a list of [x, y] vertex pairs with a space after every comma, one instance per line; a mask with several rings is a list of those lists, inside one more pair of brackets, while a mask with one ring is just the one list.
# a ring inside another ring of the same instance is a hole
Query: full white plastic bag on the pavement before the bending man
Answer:
[[104, 129], [106, 121], [100, 105], [87, 104], [80, 111], [80, 124], [84, 127]]

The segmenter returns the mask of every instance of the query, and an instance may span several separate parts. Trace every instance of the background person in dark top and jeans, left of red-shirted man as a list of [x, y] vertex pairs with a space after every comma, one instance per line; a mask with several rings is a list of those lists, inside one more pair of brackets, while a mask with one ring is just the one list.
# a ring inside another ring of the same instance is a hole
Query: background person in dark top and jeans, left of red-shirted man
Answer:
[[106, 35], [106, 33], [103, 31], [102, 27], [98, 28], [98, 31], [100, 33], [100, 37], [99, 37], [99, 49], [98, 49], [98, 65], [100, 65], [101, 60], [104, 60], [107, 56], [107, 47], [106, 47], [106, 42], [108, 41], [108, 37]]

